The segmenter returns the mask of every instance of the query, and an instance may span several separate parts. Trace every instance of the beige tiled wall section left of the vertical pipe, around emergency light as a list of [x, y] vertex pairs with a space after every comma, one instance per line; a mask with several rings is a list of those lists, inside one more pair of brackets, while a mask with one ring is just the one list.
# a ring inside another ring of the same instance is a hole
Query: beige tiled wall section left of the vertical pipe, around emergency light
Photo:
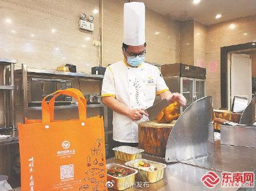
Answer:
[[[10, 57], [38, 69], [56, 69], [65, 63], [90, 71], [98, 64], [98, 0], [0, 1], [0, 57]], [[79, 31], [81, 13], [93, 15], [94, 33]]]

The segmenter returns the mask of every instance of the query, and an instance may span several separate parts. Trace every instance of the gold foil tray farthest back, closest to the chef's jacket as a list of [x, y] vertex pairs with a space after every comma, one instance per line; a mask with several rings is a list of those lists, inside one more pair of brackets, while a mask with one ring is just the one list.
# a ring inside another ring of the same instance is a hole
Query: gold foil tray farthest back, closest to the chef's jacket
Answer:
[[115, 158], [123, 161], [131, 161], [141, 158], [141, 153], [144, 152], [143, 149], [138, 149], [131, 146], [119, 146], [113, 148], [115, 151]]

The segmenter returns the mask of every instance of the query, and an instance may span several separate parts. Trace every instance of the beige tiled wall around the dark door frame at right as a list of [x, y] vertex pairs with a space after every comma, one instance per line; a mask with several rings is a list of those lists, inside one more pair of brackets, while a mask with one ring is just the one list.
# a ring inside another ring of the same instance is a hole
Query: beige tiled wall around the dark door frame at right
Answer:
[[221, 47], [256, 41], [256, 16], [243, 17], [207, 27], [207, 95], [214, 108], [221, 107]]

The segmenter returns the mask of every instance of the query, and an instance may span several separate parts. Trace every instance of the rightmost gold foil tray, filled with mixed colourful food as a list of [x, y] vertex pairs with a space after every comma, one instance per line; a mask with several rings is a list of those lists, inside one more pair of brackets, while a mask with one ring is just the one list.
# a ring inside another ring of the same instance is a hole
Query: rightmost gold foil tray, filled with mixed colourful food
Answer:
[[[147, 163], [150, 165], [154, 165], [156, 168], [158, 168], [158, 170], [157, 171], [146, 171], [144, 169], [134, 167], [134, 164], [136, 164], [140, 161], [143, 161], [144, 163]], [[145, 160], [143, 158], [129, 161], [129, 162], [125, 163], [125, 165], [138, 170], [138, 174], [136, 176], [137, 179], [141, 179], [142, 181], [146, 181], [149, 183], [154, 183], [154, 182], [157, 182], [157, 181], [160, 181], [161, 179], [163, 179], [163, 174], [164, 174], [165, 168], [166, 168], [166, 164], [157, 163], [157, 162], [151, 161], [151, 160]]]

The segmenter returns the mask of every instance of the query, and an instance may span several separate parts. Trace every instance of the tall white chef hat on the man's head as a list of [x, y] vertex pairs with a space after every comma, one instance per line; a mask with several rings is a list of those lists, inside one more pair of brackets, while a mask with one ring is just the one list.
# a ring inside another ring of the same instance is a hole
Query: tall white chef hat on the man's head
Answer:
[[123, 43], [131, 46], [140, 46], [145, 43], [144, 3], [125, 3], [123, 26]]

